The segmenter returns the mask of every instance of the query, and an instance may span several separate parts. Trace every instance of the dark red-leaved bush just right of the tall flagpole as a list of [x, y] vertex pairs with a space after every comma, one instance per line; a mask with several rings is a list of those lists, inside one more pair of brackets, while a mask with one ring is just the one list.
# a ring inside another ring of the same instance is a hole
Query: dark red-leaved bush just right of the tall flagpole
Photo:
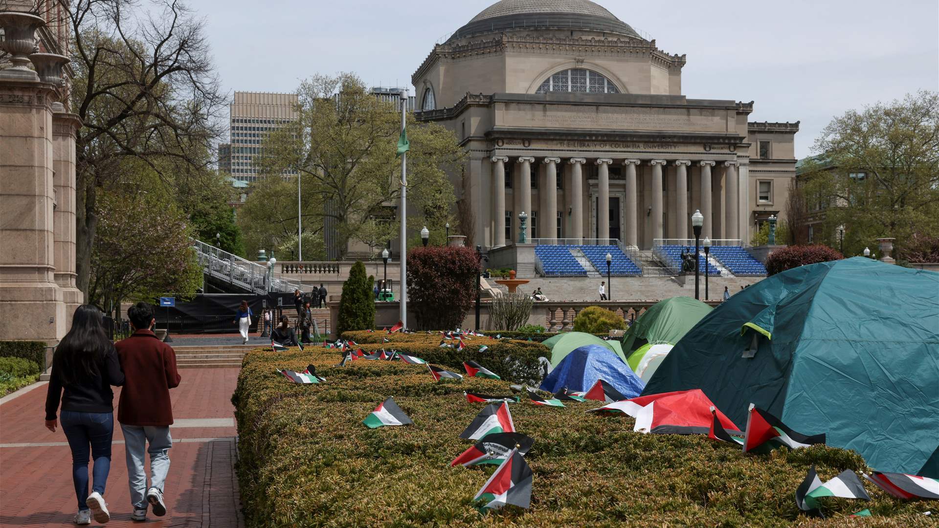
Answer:
[[453, 330], [476, 299], [479, 258], [468, 247], [418, 247], [408, 252], [408, 302], [418, 330]]

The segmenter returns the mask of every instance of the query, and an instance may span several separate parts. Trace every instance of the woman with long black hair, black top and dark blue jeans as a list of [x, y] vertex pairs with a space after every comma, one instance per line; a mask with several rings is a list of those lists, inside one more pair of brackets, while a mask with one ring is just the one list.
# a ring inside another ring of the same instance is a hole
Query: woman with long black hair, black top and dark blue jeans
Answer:
[[[114, 435], [114, 392], [124, 384], [114, 343], [101, 325], [101, 312], [83, 304], [75, 309], [69, 334], [53, 355], [53, 371], [46, 395], [46, 428], [55, 432], [59, 402], [62, 430], [71, 448], [71, 477], [78, 498], [75, 524], [111, 519], [104, 503], [104, 487], [111, 471]], [[63, 393], [64, 389], [64, 393]], [[88, 456], [94, 458], [93, 489], [88, 494]]]

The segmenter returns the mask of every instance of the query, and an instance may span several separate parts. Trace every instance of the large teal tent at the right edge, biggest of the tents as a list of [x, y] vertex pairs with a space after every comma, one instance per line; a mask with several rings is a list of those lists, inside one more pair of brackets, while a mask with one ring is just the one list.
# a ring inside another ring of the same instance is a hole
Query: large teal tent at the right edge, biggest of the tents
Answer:
[[877, 471], [939, 477], [939, 273], [858, 256], [768, 277], [702, 318], [642, 395], [694, 388], [740, 427], [752, 402]]

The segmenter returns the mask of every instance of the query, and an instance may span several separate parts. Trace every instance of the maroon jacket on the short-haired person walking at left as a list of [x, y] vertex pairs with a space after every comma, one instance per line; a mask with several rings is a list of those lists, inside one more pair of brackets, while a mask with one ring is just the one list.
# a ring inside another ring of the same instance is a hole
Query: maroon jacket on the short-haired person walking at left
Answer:
[[126, 426], [170, 426], [170, 389], [179, 385], [176, 352], [149, 330], [115, 344], [124, 368], [117, 421]]

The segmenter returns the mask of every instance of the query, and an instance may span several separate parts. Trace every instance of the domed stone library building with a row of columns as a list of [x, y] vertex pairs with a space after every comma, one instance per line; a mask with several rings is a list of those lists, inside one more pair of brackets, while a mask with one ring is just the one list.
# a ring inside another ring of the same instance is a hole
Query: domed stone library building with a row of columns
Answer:
[[[589, 0], [500, 0], [411, 77], [418, 119], [469, 152], [454, 186], [471, 243], [740, 240], [784, 211], [795, 123], [751, 123], [753, 101], [688, 99], [669, 54]], [[677, 243], [677, 242], [676, 242]]]

